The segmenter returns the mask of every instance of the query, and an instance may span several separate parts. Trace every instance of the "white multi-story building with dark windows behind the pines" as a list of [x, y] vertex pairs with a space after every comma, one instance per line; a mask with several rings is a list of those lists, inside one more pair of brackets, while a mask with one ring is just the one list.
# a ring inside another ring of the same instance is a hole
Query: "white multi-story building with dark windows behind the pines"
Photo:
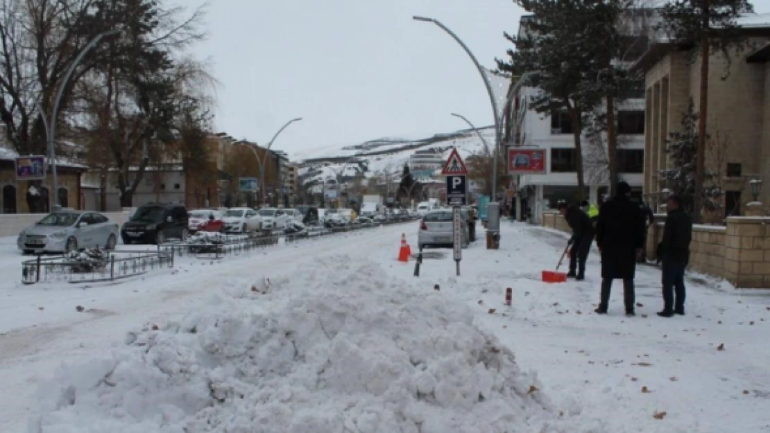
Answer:
[[[519, 36], [527, 32], [521, 18]], [[637, 50], [641, 55], [642, 50]], [[629, 60], [628, 58], [626, 60]], [[573, 125], [566, 110], [541, 114], [529, 106], [531, 99], [541, 92], [527, 87], [527, 79], [519, 79], [509, 90], [511, 122], [508, 128], [512, 146], [539, 148], [545, 151], [545, 173], [519, 175], [515, 208], [517, 218], [526, 215], [534, 222], [541, 221], [542, 212], [555, 208], [557, 202], [576, 202], [579, 196], [598, 203], [609, 189], [609, 166], [606, 137], [591, 140], [581, 136], [581, 156], [585, 191], [577, 188], [577, 152], [574, 145]], [[602, 108], [598, 107], [597, 112]], [[629, 95], [618, 104], [618, 173], [619, 178], [631, 185], [633, 194], [641, 198], [644, 171], [644, 93]]]

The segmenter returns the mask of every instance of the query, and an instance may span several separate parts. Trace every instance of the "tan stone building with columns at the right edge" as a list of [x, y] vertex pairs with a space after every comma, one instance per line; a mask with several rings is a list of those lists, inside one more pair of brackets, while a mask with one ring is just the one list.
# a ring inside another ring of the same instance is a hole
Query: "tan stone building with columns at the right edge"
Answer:
[[[725, 192], [720, 212], [705, 215], [711, 221], [744, 215], [745, 205], [754, 200], [752, 180], [770, 178], [770, 14], [745, 15], [737, 24], [748, 48], [732, 49], [729, 63], [721, 53], [708, 59], [705, 166]], [[659, 174], [673, 168], [666, 141], [672, 132], [681, 132], [690, 101], [698, 111], [701, 58], [692, 48], [659, 42], [634, 68], [644, 72], [647, 95], [644, 194], [658, 201], [666, 188]], [[762, 188], [759, 199], [770, 202], [770, 188]]]

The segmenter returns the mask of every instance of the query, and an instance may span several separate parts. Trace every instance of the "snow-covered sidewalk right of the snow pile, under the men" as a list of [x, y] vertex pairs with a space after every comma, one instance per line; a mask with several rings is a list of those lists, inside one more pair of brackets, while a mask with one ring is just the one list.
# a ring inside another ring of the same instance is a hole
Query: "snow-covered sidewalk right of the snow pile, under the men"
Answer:
[[[478, 241], [464, 251], [460, 278], [448, 255], [426, 260], [420, 281], [473, 305], [477, 321], [525, 371], [537, 371], [562, 410], [603, 418], [607, 431], [770, 431], [770, 291], [736, 291], [691, 274], [688, 314], [659, 318], [660, 271], [641, 265], [637, 316], [624, 316], [619, 280], [609, 315], [600, 316], [593, 312], [601, 281], [596, 248], [586, 281], [547, 285], [540, 271], [555, 268], [567, 235], [508, 222], [501, 234], [498, 251]], [[504, 305], [507, 287], [511, 307]]]

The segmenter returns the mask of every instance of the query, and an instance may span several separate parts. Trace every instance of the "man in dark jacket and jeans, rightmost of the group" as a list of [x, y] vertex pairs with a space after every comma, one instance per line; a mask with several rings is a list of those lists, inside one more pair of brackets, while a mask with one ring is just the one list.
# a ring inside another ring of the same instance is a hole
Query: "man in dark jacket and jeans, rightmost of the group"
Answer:
[[692, 239], [692, 221], [681, 208], [681, 198], [672, 195], [667, 205], [663, 241], [658, 245], [658, 260], [663, 262], [663, 311], [658, 312], [661, 317], [685, 315], [685, 268], [690, 261]]

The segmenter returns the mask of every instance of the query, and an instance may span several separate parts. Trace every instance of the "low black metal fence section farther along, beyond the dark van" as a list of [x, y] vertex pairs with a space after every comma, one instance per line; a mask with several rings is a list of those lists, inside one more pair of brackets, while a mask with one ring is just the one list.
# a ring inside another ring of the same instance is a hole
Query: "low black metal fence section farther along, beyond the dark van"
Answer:
[[159, 251], [171, 251], [180, 257], [190, 255], [196, 258], [219, 259], [226, 255], [241, 255], [259, 248], [278, 244], [280, 236], [222, 235], [209, 237], [201, 242], [179, 242], [162, 244]]

